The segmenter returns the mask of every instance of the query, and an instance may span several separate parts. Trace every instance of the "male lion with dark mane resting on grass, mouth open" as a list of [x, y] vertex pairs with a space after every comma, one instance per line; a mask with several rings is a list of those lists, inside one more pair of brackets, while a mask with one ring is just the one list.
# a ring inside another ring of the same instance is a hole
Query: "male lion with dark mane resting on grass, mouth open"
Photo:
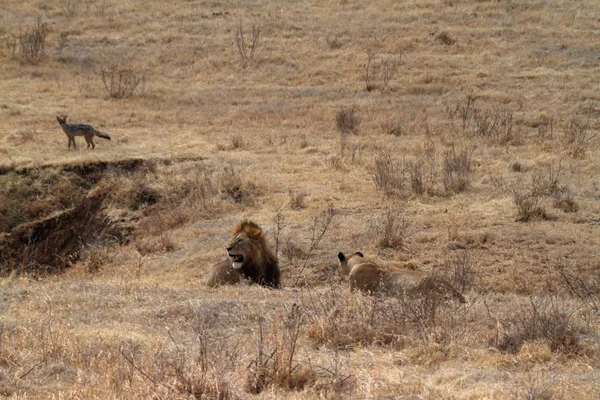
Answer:
[[235, 227], [231, 236], [231, 242], [227, 245], [229, 259], [213, 267], [206, 284], [214, 287], [249, 281], [279, 288], [277, 257], [268, 248], [262, 229], [254, 222], [244, 220]]

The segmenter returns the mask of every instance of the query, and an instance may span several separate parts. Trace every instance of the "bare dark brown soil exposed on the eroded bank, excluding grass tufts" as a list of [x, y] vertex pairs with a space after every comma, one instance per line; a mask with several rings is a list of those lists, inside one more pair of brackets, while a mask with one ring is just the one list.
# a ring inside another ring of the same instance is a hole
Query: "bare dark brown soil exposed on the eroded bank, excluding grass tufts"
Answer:
[[[64, 184], [61, 180], [49, 180], [46, 186], [50, 187], [45, 190], [48, 193], [62, 191], [61, 194], [75, 204], [60, 210], [60, 205], [47, 202], [49, 207], [27, 210], [24, 221], [15, 226], [9, 225], [6, 228], [5, 224], [3, 232], [0, 232], [0, 273], [4, 275], [15, 270], [35, 274], [59, 272], [78, 261], [82, 250], [92, 241], [110, 236], [120, 243], [127, 242], [135, 230], [135, 225], [114, 220], [104, 212], [103, 202], [108, 193], [101, 188], [97, 190], [97, 183], [107, 170], [118, 169], [121, 172], [133, 173], [140, 169], [152, 170], [157, 163], [171, 165], [182, 161], [189, 161], [189, 158], [126, 159], [115, 162], [93, 161], [63, 166], [1, 169], [0, 175], [15, 173], [9, 178], [13, 187], [23, 187], [22, 190], [16, 189], [7, 196], [19, 204], [35, 203], [36, 196], [40, 195], [35, 190], [28, 190], [31, 181], [39, 177], [40, 170], [52, 169], [54, 174], [61, 177], [73, 174], [75, 176], [68, 179], [68, 193], [64, 193], [65, 190], [58, 187]], [[53, 184], [57, 187], [52, 187]], [[140, 204], [154, 204], [158, 199], [143, 192], [137, 201]]]

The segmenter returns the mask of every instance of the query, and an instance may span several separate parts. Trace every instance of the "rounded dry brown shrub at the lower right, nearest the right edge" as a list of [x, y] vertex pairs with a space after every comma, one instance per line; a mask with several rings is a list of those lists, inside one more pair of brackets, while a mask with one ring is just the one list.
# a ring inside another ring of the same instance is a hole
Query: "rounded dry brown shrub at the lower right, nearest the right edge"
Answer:
[[513, 308], [511, 316], [501, 321], [502, 335], [498, 348], [518, 352], [526, 342], [547, 340], [555, 353], [580, 354], [580, 335], [585, 328], [576, 320], [576, 310], [554, 297], [530, 297], [529, 304]]

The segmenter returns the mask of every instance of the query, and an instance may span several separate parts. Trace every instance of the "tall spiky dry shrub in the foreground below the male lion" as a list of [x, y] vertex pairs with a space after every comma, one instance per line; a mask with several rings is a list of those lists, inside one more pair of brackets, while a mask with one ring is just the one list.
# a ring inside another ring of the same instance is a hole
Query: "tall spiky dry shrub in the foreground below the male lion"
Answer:
[[302, 390], [314, 382], [311, 368], [297, 361], [298, 339], [304, 327], [304, 313], [300, 306], [292, 307], [272, 321], [267, 339], [259, 327], [257, 354], [249, 366], [246, 390], [259, 394], [269, 386], [287, 390]]

